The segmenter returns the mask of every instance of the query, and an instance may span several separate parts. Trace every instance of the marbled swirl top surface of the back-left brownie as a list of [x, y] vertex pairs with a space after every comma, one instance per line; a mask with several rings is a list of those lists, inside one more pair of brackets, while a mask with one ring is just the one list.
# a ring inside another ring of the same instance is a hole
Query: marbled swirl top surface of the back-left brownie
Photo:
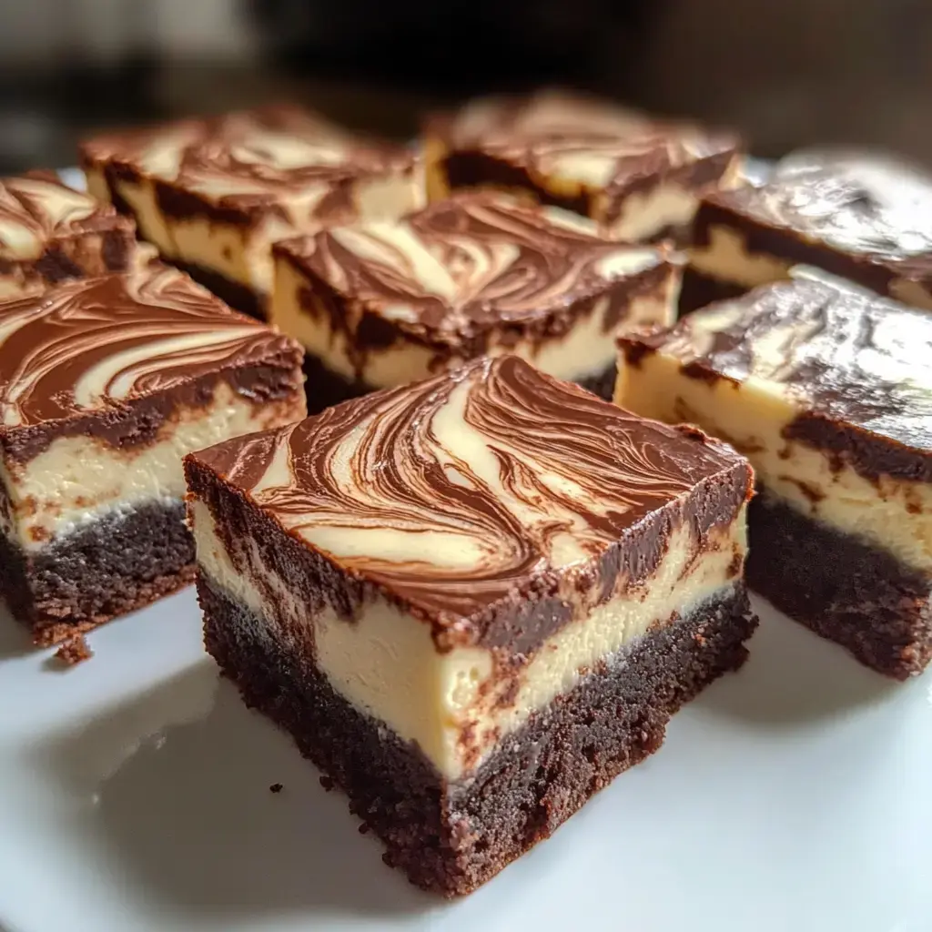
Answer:
[[402, 146], [357, 138], [294, 107], [110, 133], [86, 141], [81, 154], [90, 165], [113, 163], [244, 210], [318, 189], [336, 208], [345, 196], [340, 182], [408, 170], [415, 158]]

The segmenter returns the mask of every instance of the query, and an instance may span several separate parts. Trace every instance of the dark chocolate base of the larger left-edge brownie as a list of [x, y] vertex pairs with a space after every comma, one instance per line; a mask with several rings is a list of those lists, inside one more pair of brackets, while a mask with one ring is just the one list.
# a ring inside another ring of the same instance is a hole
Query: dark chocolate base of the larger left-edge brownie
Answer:
[[47, 646], [140, 609], [194, 582], [185, 509], [148, 504], [25, 554], [0, 535], [0, 594]]

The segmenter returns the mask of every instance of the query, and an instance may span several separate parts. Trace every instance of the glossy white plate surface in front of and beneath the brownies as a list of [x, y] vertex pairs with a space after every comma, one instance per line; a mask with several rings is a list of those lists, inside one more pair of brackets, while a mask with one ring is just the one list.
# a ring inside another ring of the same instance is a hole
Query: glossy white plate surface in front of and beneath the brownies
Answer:
[[454, 903], [385, 867], [218, 680], [192, 592], [89, 641], [55, 670], [0, 618], [8, 932], [932, 929], [932, 677], [887, 681], [770, 610], [665, 747]]

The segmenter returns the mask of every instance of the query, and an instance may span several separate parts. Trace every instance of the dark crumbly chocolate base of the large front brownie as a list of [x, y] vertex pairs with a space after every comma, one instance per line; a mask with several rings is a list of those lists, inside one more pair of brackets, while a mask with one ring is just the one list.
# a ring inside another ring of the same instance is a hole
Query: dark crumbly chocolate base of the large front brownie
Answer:
[[291, 733], [385, 843], [386, 863], [448, 897], [470, 893], [547, 838], [597, 790], [661, 746], [666, 723], [742, 665], [757, 619], [743, 587], [644, 637], [533, 717], [465, 787], [416, 747], [379, 735], [308, 656], [251, 610], [198, 581], [205, 644], [247, 705]]

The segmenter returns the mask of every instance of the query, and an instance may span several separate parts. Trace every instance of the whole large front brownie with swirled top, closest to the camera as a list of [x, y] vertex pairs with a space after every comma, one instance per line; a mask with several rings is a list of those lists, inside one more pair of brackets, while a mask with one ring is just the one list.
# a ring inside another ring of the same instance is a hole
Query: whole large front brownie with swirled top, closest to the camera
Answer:
[[660, 747], [756, 625], [747, 460], [514, 356], [185, 472], [207, 650], [447, 896]]

